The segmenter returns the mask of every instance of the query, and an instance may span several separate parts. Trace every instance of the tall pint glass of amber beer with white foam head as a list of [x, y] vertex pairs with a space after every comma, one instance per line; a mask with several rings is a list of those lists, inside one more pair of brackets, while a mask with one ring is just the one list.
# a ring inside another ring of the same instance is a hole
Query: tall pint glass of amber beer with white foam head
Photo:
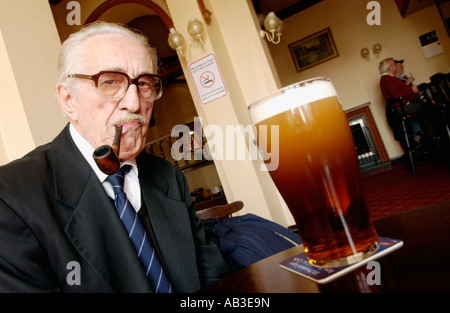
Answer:
[[[310, 263], [337, 267], [374, 253], [378, 235], [361, 195], [355, 144], [330, 80], [283, 88], [249, 110], [257, 130], [279, 125], [279, 165], [270, 175], [295, 219]], [[270, 132], [259, 138], [262, 151], [269, 151], [270, 140]]]

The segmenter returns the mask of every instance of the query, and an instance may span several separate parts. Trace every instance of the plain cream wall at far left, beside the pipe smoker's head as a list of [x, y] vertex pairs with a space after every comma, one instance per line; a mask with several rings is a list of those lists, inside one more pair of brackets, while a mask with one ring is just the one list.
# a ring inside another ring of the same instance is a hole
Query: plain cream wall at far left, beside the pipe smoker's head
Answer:
[[53, 139], [66, 123], [55, 98], [61, 46], [46, 0], [0, 1], [0, 163]]

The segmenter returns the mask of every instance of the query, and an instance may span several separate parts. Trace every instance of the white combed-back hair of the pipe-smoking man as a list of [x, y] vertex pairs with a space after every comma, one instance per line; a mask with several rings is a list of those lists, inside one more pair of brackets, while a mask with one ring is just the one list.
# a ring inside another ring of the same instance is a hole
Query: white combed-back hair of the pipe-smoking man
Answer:
[[[147, 37], [143, 34], [131, 30], [123, 25], [108, 23], [103, 21], [96, 21], [84, 26], [80, 31], [73, 33], [64, 41], [61, 47], [58, 62], [58, 77], [57, 82], [66, 86], [71, 86], [71, 79], [68, 78], [70, 74], [85, 74], [83, 73], [85, 60], [83, 60], [85, 47], [84, 42], [97, 35], [119, 34], [137, 40], [143, 47], [145, 47], [152, 58], [153, 71], [155, 74], [158, 71], [158, 58], [156, 56], [156, 49], [150, 47]], [[95, 74], [95, 73], [86, 73]]]

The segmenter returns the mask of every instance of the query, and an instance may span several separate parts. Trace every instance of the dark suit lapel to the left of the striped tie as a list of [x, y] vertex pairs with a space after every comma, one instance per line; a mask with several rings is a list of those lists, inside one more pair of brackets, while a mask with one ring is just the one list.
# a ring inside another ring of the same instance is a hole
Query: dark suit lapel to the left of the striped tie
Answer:
[[65, 227], [67, 236], [111, 291], [151, 292], [114, 204], [68, 128], [64, 136], [69, 138], [56, 145], [54, 173], [57, 200], [73, 208]]

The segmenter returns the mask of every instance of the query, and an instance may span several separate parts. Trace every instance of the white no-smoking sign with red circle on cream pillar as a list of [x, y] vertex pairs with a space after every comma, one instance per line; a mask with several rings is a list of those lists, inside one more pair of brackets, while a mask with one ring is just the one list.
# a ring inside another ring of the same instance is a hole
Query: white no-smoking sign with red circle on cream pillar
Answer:
[[211, 53], [189, 64], [189, 71], [202, 105], [228, 94], [216, 56]]

